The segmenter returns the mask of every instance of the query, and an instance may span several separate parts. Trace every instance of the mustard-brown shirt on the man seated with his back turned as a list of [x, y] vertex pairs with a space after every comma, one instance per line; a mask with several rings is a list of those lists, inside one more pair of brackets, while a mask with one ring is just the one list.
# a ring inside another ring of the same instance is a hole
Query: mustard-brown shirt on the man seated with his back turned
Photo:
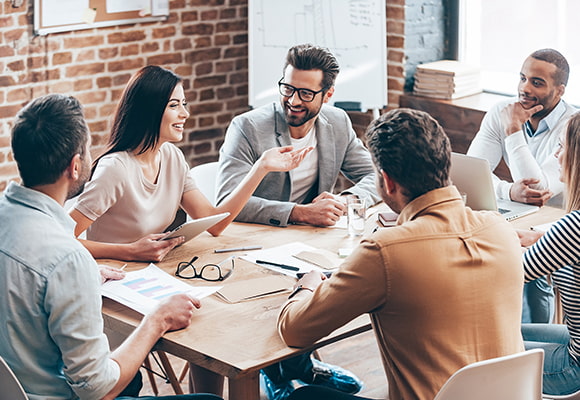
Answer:
[[459, 368], [524, 350], [520, 244], [454, 186], [413, 200], [397, 224], [364, 239], [314, 293], [298, 292], [278, 329], [300, 347], [370, 313], [389, 398], [431, 400]]

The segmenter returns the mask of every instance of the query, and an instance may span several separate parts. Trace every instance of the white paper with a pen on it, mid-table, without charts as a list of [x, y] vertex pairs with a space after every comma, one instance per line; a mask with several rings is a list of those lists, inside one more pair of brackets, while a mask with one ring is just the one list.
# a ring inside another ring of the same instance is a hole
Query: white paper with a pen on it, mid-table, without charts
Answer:
[[[297, 272], [335, 269], [342, 262], [338, 254], [328, 250], [317, 249], [301, 242], [293, 242], [269, 249], [253, 251], [241, 258], [271, 269], [272, 271], [293, 277], [296, 277]], [[259, 263], [257, 261], [296, 267], [298, 271], [285, 269], [276, 265], [269, 265], [267, 263]]]

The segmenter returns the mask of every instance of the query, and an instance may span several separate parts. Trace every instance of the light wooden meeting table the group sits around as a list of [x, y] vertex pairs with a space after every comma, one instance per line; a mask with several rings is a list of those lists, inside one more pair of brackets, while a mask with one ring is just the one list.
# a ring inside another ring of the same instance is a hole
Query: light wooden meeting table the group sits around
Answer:
[[[375, 221], [376, 216], [369, 218], [368, 231], [376, 226]], [[290, 242], [303, 242], [316, 248], [336, 251], [338, 248], [353, 248], [359, 241], [359, 238], [349, 238], [346, 229], [340, 228], [298, 225], [276, 228], [233, 223], [217, 238], [203, 233], [174, 249], [157, 265], [173, 275], [179, 262], [189, 261], [194, 255], [199, 256], [195, 264], [201, 266], [222, 261], [230, 255], [243, 254], [215, 254], [214, 249], [219, 248], [244, 245], [269, 248]], [[147, 264], [130, 263], [126, 270], [139, 269], [145, 265]], [[216, 284], [227, 285], [230, 282], [274, 273], [252, 263], [236, 262], [234, 273], [226, 281]], [[296, 280], [292, 277], [287, 279], [288, 288], [291, 288]], [[188, 282], [200, 286], [212, 285], [201, 279]], [[229, 399], [256, 400], [260, 398], [258, 378], [261, 368], [371, 329], [370, 319], [365, 314], [311, 347], [290, 348], [284, 344], [276, 330], [278, 312], [287, 296], [288, 293], [283, 293], [237, 304], [228, 304], [215, 295], [205, 298], [202, 300], [201, 309], [195, 311], [190, 327], [164, 335], [156, 350], [174, 354], [227, 376]], [[141, 319], [137, 312], [109, 299], [103, 300], [103, 315], [106, 328], [123, 336], [129, 335]]]

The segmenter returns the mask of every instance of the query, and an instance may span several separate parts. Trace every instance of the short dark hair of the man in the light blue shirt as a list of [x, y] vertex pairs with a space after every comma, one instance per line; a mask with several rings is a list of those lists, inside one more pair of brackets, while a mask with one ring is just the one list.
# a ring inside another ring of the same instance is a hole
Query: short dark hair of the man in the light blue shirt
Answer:
[[12, 153], [26, 187], [55, 183], [76, 154], [86, 156], [89, 129], [80, 102], [49, 94], [16, 115]]

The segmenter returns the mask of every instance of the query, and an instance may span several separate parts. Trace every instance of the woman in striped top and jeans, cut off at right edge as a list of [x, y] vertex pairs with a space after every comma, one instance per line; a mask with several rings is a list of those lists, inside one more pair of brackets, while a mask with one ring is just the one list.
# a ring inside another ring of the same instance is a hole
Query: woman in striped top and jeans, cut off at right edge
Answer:
[[[580, 390], [580, 113], [568, 122], [556, 157], [566, 185], [566, 214], [541, 237], [520, 233], [526, 282], [552, 275], [562, 299], [565, 325], [523, 324], [526, 349], [544, 349], [544, 393]], [[537, 235], [537, 233], [536, 233]]]

